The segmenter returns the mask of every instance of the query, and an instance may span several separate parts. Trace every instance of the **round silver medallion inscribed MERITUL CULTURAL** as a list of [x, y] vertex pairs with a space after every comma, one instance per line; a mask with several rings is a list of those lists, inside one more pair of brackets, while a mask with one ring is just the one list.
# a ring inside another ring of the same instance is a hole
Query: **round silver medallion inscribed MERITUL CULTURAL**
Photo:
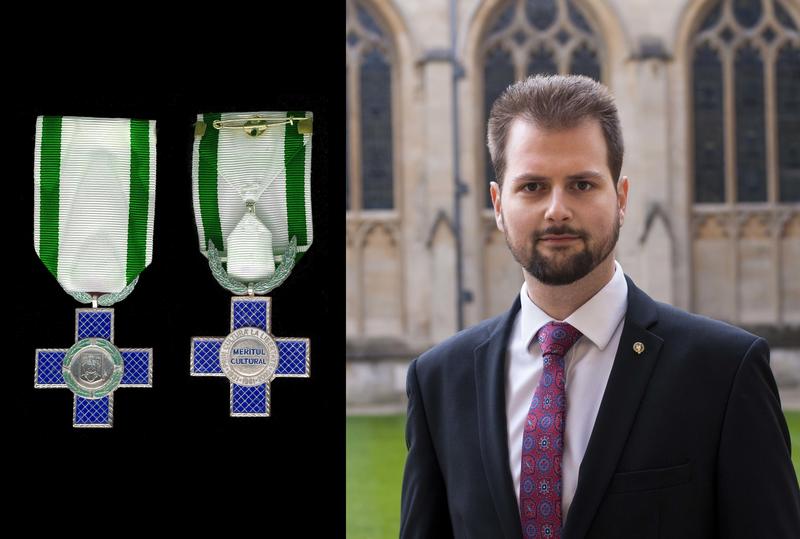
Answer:
[[234, 384], [259, 386], [272, 380], [278, 368], [278, 345], [266, 331], [237, 329], [222, 342], [219, 362]]

